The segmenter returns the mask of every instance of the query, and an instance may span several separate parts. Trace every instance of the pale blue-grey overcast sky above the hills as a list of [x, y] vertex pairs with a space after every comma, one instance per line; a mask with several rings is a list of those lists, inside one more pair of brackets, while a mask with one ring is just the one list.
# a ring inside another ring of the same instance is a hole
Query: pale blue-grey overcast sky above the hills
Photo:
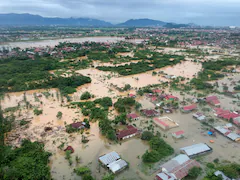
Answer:
[[0, 13], [240, 26], [240, 0], [0, 0]]

